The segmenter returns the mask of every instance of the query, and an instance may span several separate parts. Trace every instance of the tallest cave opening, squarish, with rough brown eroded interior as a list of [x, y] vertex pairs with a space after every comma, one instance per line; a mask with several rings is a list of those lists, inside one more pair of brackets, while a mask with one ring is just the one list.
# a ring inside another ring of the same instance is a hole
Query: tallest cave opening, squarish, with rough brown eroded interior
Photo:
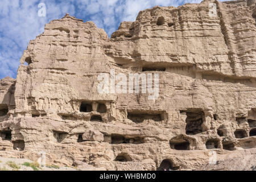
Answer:
[[187, 109], [181, 110], [180, 113], [185, 113], [186, 118], [186, 134], [196, 135], [203, 132], [202, 124], [204, 122], [204, 111], [202, 109]]

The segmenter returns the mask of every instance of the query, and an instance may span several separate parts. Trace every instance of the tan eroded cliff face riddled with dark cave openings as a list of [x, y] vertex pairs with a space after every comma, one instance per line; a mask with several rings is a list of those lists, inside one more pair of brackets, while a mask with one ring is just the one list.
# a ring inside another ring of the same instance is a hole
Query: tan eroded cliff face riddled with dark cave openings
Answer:
[[[117, 170], [198, 168], [209, 154], [255, 164], [255, 18], [251, 0], [153, 7], [110, 39], [93, 22], [53, 20], [16, 81], [0, 81], [0, 156]], [[139, 93], [100, 93], [101, 73], [147, 77]], [[142, 91], [151, 73], [154, 99]]]

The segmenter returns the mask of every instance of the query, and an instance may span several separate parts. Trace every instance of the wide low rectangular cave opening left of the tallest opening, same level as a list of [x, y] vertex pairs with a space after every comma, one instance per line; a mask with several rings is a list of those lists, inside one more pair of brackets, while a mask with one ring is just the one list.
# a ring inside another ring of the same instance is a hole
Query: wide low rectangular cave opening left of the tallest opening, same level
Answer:
[[162, 114], [147, 114], [147, 113], [133, 113], [128, 112], [127, 118], [135, 123], [142, 123], [145, 119], [152, 119], [153, 121], [162, 121]]

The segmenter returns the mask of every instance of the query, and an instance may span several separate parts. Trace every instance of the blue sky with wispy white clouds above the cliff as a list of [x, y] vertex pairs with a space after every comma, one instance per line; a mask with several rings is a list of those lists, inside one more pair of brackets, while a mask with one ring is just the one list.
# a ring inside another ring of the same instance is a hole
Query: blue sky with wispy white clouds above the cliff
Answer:
[[[69, 13], [84, 22], [92, 20], [110, 36], [122, 21], [134, 21], [140, 10], [154, 6], [180, 6], [201, 0], [0, 0], [0, 79], [16, 78], [19, 59], [44, 25]], [[39, 3], [46, 16], [38, 16]]]

